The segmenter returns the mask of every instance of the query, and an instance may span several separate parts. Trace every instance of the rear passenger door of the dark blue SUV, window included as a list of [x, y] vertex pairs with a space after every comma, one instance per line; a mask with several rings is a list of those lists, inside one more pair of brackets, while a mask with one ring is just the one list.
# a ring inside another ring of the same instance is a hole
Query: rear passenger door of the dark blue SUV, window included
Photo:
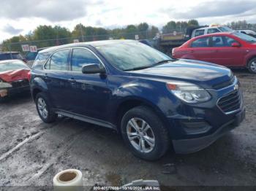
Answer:
[[70, 49], [54, 52], [44, 66], [44, 79], [48, 86], [50, 101], [57, 109], [69, 111], [72, 104], [72, 90], [75, 83], [69, 69]]

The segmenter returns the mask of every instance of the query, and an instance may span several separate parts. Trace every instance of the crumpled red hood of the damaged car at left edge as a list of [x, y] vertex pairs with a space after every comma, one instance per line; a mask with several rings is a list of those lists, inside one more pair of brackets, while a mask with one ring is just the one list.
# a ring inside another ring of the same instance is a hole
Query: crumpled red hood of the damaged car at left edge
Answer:
[[0, 72], [0, 79], [5, 82], [14, 82], [20, 79], [29, 79], [29, 69], [19, 69]]

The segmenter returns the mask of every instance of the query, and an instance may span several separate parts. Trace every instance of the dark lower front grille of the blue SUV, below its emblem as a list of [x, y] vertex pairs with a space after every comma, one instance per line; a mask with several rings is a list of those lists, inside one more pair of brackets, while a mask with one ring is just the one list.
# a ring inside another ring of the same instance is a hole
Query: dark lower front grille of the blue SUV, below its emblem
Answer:
[[235, 90], [232, 93], [225, 95], [218, 101], [218, 106], [223, 112], [229, 113], [240, 109], [242, 101], [242, 93], [240, 90]]

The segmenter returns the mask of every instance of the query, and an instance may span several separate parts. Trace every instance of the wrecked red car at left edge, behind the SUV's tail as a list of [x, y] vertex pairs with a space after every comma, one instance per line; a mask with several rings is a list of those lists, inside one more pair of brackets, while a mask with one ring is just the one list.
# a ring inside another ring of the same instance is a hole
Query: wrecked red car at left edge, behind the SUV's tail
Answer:
[[0, 98], [29, 92], [30, 68], [20, 60], [0, 61]]

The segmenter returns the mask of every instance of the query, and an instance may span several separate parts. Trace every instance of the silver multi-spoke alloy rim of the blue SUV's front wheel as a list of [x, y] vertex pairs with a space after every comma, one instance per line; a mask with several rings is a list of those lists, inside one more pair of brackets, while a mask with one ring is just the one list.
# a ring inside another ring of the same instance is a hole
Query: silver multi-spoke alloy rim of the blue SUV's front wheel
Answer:
[[148, 153], [154, 149], [155, 138], [151, 126], [145, 120], [132, 118], [127, 123], [127, 136], [139, 152]]

